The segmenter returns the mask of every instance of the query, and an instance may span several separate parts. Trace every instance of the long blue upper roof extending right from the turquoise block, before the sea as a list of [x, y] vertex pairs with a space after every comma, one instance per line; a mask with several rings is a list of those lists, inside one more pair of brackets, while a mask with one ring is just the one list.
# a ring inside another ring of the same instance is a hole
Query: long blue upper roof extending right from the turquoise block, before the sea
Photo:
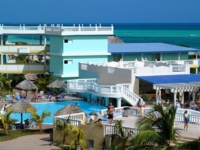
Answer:
[[199, 52], [199, 49], [165, 43], [115, 43], [108, 44], [108, 52], [112, 54], [152, 54]]

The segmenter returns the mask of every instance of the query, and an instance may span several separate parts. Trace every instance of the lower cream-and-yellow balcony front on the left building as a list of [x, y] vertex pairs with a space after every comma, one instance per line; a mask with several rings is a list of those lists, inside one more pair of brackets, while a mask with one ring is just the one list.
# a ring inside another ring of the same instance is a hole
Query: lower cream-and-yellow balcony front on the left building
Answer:
[[23, 74], [38, 73], [43, 74], [49, 71], [49, 65], [44, 64], [6, 64], [0, 65], [1, 73]]

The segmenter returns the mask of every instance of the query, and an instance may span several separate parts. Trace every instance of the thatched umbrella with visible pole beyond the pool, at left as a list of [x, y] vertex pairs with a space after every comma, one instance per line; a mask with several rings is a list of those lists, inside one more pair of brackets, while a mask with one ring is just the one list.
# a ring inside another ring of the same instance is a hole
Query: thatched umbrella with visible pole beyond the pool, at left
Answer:
[[38, 90], [38, 87], [29, 80], [24, 80], [22, 82], [20, 82], [19, 84], [16, 85], [17, 88], [23, 89], [26, 91], [26, 96], [27, 96], [27, 91], [29, 90]]

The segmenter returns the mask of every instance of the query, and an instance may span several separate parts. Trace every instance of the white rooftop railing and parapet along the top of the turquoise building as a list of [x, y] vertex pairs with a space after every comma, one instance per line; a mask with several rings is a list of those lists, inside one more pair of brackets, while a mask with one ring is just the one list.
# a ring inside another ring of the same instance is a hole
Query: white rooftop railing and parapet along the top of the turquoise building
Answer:
[[73, 26], [63, 26], [63, 24], [51, 24], [51, 26], [38, 25], [26, 26], [4, 26], [0, 24], [0, 34], [47, 34], [47, 35], [113, 35], [114, 27], [111, 26], [83, 26], [75, 24]]

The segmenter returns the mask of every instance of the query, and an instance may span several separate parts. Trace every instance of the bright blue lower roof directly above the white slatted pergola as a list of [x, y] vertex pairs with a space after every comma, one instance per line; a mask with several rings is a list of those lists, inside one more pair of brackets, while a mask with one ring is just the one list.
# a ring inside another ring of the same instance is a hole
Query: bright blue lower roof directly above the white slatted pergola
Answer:
[[197, 74], [137, 76], [137, 78], [151, 84], [200, 82], [200, 75]]

